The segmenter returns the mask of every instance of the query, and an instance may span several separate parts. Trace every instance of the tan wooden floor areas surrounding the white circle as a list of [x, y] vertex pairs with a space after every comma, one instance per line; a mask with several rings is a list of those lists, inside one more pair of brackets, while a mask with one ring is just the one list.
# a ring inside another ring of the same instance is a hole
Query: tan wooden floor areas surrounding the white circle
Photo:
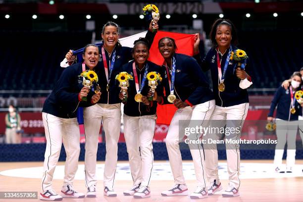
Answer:
[[[222, 161], [223, 162], [223, 161]], [[272, 162], [269, 160], [242, 160], [242, 162]], [[83, 164], [84, 162], [79, 162]], [[98, 162], [103, 163], [103, 162]], [[297, 160], [297, 164], [303, 164], [303, 160]], [[58, 164], [63, 164], [59, 162]], [[0, 163], [0, 171], [14, 168], [43, 166], [43, 162], [13, 162]], [[24, 173], [26, 175], [26, 173]], [[41, 175], [41, 173], [37, 173]], [[0, 175], [0, 191], [38, 191], [40, 192], [41, 179], [17, 178]], [[227, 187], [227, 180], [222, 180], [223, 189]], [[130, 188], [131, 181], [115, 181], [115, 191], [117, 197], [109, 198], [102, 195], [102, 182], [98, 182], [97, 198], [68, 199], [64, 198], [63, 202], [303, 202], [303, 177], [292, 178], [269, 178], [269, 179], [242, 179], [240, 188], [240, 197], [222, 198], [221, 195], [210, 196], [207, 199], [191, 200], [188, 196], [181, 197], [162, 197], [161, 191], [167, 190], [173, 185], [171, 181], [152, 181], [151, 198], [134, 199], [131, 196], [123, 196], [123, 191]], [[189, 191], [195, 190], [196, 181], [188, 180]], [[62, 180], [53, 180], [53, 188], [59, 193]], [[74, 187], [78, 192], [86, 193], [83, 180], [75, 180]], [[32, 202], [39, 200], [3, 200], [0, 202]]]

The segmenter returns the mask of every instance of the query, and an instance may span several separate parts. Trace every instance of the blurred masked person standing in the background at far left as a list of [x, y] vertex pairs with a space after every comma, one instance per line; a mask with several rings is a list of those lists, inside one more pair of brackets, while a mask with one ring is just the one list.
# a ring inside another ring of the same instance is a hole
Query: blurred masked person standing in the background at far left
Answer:
[[17, 143], [16, 131], [20, 130], [20, 115], [13, 105], [8, 106], [8, 113], [5, 115], [5, 142], [6, 144]]

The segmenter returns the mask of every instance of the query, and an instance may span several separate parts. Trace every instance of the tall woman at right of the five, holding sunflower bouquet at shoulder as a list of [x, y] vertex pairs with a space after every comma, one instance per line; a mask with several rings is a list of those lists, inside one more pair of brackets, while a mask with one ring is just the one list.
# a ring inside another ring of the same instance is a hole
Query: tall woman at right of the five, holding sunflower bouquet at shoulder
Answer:
[[[236, 28], [230, 20], [217, 19], [211, 28], [212, 48], [201, 60], [202, 70], [210, 69], [213, 93], [216, 101], [211, 116], [212, 126], [242, 128], [249, 108], [247, 88], [253, 83], [245, 66], [248, 58], [245, 51], [235, 47], [237, 43]], [[195, 52], [199, 51], [200, 39], [195, 43]], [[216, 121], [217, 120], [217, 121]], [[221, 121], [219, 121], [221, 120]], [[238, 130], [239, 131], [239, 130]], [[238, 132], [237, 131], [237, 132]], [[217, 140], [219, 134], [210, 134], [206, 139]], [[239, 140], [239, 133], [225, 134], [225, 138]], [[206, 147], [206, 148], [205, 148]], [[205, 145], [205, 164], [207, 178], [210, 182], [208, 195], [222, 190], [218, 176], [218, 152], [216, 144]], [[208, 148], [207, 148], [208, 147]], [[238, 144], [226, 144], [229, 187], [222, 193], [223, 197], [239, 196], [240, 187], [240, 150]]]

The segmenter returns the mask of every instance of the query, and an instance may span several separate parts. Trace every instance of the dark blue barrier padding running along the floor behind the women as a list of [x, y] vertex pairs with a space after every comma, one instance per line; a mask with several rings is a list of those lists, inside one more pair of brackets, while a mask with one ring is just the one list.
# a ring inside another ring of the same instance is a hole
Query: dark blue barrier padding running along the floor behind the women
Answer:
[[[168, 160], [165, 143], [153, 143], [154, 160]], [[80, 144], [81, 152], [79, 160], [84, 160], [85, 145]], [[0, 144], [0, 162], [17, 161], [44, 161], [46, 144]], [[99, 143], [97, 160], [105, 160], [105, 143]], [[191, 160], [189, 150], [181, 150], [184, 160]], [[273, 159], [274, 150], [241, 150], [241, 159]], [[218, 151], [219, 159], [226, 159], [224, 150]], [[66, 154], [62, 145], [59, 161], [64, 161]], [[286, 151], [283, 158], [286, 158]], [[297, 159], [303, 159], [303, 150], [297, 150]], [[128, 160], [125, 143], [118, 143], [118, 160]]]

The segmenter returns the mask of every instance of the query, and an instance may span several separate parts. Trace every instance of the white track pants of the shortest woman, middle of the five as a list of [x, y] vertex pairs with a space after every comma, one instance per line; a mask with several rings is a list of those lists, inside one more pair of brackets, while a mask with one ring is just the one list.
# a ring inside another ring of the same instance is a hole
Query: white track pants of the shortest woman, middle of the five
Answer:
[[150, 185], [153, 164], [152, 139], [156, 118], [156, 115], [123, 114], [124, 137], [134, 185]]

